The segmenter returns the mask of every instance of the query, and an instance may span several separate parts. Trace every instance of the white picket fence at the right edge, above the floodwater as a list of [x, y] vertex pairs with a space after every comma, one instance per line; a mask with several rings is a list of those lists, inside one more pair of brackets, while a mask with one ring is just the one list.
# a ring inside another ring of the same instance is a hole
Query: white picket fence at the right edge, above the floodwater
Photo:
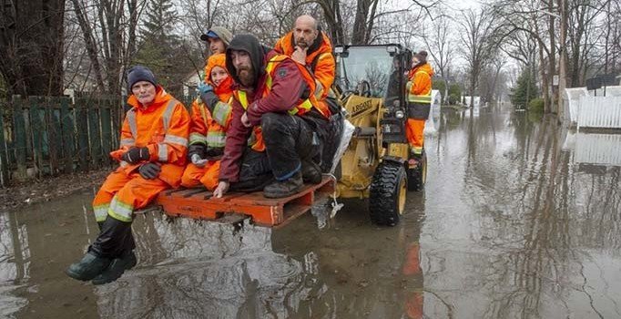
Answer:
[[621, 129], [621, 97], [580, 97], [577, 129]]

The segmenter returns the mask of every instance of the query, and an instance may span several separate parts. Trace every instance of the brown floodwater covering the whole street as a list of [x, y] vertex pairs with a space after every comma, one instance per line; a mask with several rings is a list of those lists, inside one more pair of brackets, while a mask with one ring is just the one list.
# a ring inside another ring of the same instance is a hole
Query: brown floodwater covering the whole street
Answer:
[[363, 201], [283, 229], [134, 223], [138, 265], [69, 279], [93, 190], [0, 213], [0, 317], [619, 318], [621, 139], [506, 109], [443, 112], [393, 228]]

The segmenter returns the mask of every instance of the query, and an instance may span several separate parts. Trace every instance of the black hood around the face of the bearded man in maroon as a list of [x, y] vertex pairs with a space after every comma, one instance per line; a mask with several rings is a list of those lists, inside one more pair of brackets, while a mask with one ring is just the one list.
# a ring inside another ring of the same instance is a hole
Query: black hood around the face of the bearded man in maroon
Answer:
[[238, 35], [230, 41], [230, 45], [227, 47], [227, 71], [229, 71], [229, 75], [233, 77], [235, 82], [241, 83], [237, 75], [237, 69], [233, 66], [233, 59], [230, 57], [231, 51], [248, 52], [254, 71], [253, 83], [256, 85], [259, 77], [265, 72], [263, 59], [266, 55], [266, 48], [260, 44], [256, 36], [252, 35]]

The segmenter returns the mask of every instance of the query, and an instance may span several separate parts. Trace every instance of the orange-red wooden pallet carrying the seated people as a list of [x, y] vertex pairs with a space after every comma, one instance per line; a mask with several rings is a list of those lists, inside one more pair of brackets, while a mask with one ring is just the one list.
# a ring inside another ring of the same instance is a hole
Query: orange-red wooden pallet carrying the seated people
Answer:
[[267, 199], [262, 191], [233, 192], [217, 199], [209, 190], [187, 189], [165, 190], [156, 203], [173, 217], [226, 222], [251, 218], [256, 224], [278, 227], [310, 211], [314, 201], [332, 191], [332, 180], [324, 177], [321, 183], [304, 185], [297, 194], [282, 199]]

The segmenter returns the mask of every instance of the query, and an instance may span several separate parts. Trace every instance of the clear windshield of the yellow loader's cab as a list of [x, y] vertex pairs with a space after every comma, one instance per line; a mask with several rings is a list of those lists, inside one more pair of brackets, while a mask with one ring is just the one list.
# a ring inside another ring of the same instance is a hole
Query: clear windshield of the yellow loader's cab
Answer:
[[338, 57], [338, 80], [344, 91], [363, 96], [385, 98], [393, 73], [392, 57], [386, 46], [350, 46], [347, 55]]

